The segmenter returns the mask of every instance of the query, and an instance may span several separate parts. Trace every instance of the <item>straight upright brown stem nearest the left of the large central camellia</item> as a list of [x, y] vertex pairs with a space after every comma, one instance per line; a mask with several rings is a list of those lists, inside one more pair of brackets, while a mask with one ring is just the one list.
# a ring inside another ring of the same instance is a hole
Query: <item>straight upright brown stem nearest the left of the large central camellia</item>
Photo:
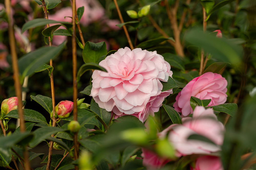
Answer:
[[[73, 62], [73, 120], [77, 121], [77, 44], [76, 44], [76, 0], [72, 0], [72, 62]], [[77, 133], [74, 134], [74, 160], [78, 159]], [[78, 169], [78, 166], [75, 166]]]

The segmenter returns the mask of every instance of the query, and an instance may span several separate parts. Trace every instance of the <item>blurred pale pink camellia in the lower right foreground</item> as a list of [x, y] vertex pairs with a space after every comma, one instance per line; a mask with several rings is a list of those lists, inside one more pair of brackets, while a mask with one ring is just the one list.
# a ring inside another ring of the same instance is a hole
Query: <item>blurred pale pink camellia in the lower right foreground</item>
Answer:
[[[196, 106], [193, 117], [185, 117], [182, 122], [174, 126], [168, 135], [168, 140], [180, 155], [210, 154], [221, 150], [225, 127], [212, 109]], [[188, 139], [193, 134], [204, 136], [213, 143]]]

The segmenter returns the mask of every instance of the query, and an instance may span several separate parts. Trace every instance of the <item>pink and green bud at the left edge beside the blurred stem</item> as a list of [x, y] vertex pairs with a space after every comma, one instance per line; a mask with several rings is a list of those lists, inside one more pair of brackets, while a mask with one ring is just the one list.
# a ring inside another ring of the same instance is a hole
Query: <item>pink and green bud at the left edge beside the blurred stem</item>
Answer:
[[1, 119], [4, 118], [10, 111], [18, 108], [18, 97], [11, 97], [3, 100], [1, 104]]

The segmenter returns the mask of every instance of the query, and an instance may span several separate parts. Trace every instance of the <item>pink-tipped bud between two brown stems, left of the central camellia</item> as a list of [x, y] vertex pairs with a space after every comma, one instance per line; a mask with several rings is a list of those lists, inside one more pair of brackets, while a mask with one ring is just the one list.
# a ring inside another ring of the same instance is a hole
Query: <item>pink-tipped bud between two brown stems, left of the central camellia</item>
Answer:
[[57, 114], [59, 118], [67, 118], [73, 108], [74, 104], [72, 101], [64, 100], [55, 106], [55, 114]]

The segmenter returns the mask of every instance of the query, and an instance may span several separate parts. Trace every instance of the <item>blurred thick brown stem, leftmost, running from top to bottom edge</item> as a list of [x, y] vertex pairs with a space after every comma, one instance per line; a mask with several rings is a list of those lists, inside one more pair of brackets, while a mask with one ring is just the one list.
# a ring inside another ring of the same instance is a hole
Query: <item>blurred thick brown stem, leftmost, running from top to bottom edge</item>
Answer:
[[[21, 85], [19, 82], [19, 68], [18, 68], [18, 58], [16, 53], [16, 44], [15, 44], [15, 37], [14, 37], [14, 28], [13, 28], [13, 18], [12, 18], [12, 11], [11, 11], [11, 4], [10, 0], [5, 0], [5, 9], [8, 18], [8, 34], [9, 34], [9, 41], [10, 41], [10, 50], [12, 56], [12, 65], [13, 65], [13, 79], [14, 79], [14, 87], [15, 87], [15, 94], [18, 97], [18, 113], [20, 119], [20, 132], [25, 132], [25, 121], [23, 117], [23, 110], [22, 110], [22, 92], [21, 92]], [[28, 152], [26, 147], [24, 147], [24, 162], [25, 162], [25, 169], [30, 169], [30, 164], [28, 161]]]

